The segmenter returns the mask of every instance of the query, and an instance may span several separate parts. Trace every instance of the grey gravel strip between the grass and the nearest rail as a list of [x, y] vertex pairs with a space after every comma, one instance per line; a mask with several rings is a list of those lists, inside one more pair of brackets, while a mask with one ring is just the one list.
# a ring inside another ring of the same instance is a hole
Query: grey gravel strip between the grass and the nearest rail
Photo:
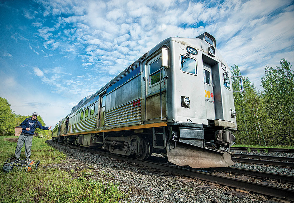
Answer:
[[[250, 192], [247, 196], [236, 197], [224, 192], [234, 188], [219, 185], [213, 189], [199, 186], [208, 184], [198, 179], [175, 175], [135, 163], [110, 158], [105, 155], [82, 151], [68, 146], [46, 141], [49, 145], [66, 154], [66, 160], [45, 168], [58, 168], [69, 172], [76, 178], [81, 168], [91, 169], [87, 179], [107, 183], [117, 183], [119, 190], [128, 195], [125, 202], [265, 202], [269, 197]], [[242, 164], [243, 165], [243, 164]], [[244, 164], [246, 165], [246, 164]], [[234, 165], [235, 166], [235, 165]], [[241, 165], [238, 166], [241, 168]], [[244, 166], [243, 166], [244, 167]], [[252, 168], [252, 165], [249, 166]], [[289, 175], [289, 174], [288, 174]]]

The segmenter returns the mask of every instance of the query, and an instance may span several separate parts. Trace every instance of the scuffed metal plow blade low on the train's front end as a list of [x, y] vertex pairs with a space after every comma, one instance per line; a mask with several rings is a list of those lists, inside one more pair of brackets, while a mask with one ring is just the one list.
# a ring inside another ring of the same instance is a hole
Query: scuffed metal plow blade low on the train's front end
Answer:
[[[176, 147], [175, 147], [176, 145]], [[166, 145], [168, 161], [176, 165], [192, 168], [227, 167], [235, 164], [231, 155], [180, 141], [169, 140]]]

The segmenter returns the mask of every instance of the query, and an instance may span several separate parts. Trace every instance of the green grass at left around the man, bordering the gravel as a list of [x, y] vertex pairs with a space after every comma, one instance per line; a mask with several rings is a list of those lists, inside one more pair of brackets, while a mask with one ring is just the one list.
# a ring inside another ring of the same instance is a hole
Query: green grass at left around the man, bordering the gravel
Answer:
[[[14, 136], [0, 136], [1, 168], [7, 158], [14, 156], [16, 142], [6, 140]], [[18, 137], [16, 137], [18, 138]], [[12, 140], [13, 141], [13, 140]], [[16, 139], [17, 141], [17, 139]], [[25, 158], [24, 148], [21, 158]], [[0, 172], [0, 202], [122, 202], [126, 195], [118, 185], [103, 184], [88, 178], [91, 169], [81, 170], [74, 178], [71, 172], [57, 168], [44, 168], [48, 164], [60, 163], [66, 155], [45, 143], [44, 138], [33, 138], [31, 158], [40, 160], [38, 170]], [[87, 178], [86, 178], [87, 177]]]

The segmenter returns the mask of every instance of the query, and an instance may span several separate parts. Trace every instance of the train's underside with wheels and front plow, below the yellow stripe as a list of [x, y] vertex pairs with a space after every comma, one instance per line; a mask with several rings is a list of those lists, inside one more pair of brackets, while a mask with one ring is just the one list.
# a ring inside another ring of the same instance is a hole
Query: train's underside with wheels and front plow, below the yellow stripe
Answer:
[[191, 123], [168, 123], [167, 126], [59, 136], [54, 141], [84, 147], [100, 147], [110, 153], [147, 160], [152, 153], [168, 158], [176, 165], [192, 168], [233, 165], [229, 148], [235, 136], [226, 128]]

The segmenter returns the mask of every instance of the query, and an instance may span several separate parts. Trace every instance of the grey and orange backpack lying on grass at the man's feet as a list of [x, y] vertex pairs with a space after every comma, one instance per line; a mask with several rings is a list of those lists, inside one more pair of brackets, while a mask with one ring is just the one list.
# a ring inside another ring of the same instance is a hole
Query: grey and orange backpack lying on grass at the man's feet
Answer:
[[9, 172], [13, 169], [31, 171], [33, 168], [38, 169], [40, 161], [35, 162], [31, 159], [15, 159], [15, 157], [8, 158], [3, 165], [2, 170]]

